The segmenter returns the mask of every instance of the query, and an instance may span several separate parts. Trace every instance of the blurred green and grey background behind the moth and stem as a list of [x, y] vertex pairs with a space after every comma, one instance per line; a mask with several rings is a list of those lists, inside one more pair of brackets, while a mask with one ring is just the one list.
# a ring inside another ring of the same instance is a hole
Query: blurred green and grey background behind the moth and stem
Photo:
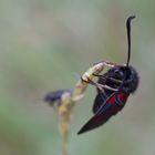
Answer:
[[73, 87], [94, 62], [126, 61], [125, 20], [141, 78], [135, 95], [106, 125], [81, 136], [95, 89], [74, 107], [71, 155], [155, 154], [154, 0], [0, 0], [0, 154], [60, 155], [58, 117], [49, 91]]

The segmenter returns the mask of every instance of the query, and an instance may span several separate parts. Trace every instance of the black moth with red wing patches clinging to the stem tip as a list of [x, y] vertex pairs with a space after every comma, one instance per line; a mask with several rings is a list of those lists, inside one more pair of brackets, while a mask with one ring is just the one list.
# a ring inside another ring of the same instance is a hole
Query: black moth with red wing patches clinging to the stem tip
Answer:
[[120, 112], [130, 94], [134, 93], [138, 85], [138, 74], [136, 70], [130, 65], [131, 59], [131, 21], [134, 16], [126, 20], [128, 53], [125, 65], [114, 65], [103, 75], [97, 76], [97, 82], [90, 79], [82, 81], [96, 86], [97, 95], [94, 100], [94, 116], [79, 131], [78, 134], [85, 133], [96, 128], [107, 122], [113, 115]]

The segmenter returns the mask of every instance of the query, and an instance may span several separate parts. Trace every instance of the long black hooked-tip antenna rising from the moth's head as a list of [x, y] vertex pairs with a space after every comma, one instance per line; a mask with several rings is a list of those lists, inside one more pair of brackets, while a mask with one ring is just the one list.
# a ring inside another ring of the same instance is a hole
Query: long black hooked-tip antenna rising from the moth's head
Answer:
[[131, 59], [131, 21], [135, 18], [135, 16], [128, 17], [126, 20], [126, 30], [127, 30], [127, 43], [128, 43], [128, 51], [127, 51], [127, 62], [126, 66], [130, 64], [130, 59]]

